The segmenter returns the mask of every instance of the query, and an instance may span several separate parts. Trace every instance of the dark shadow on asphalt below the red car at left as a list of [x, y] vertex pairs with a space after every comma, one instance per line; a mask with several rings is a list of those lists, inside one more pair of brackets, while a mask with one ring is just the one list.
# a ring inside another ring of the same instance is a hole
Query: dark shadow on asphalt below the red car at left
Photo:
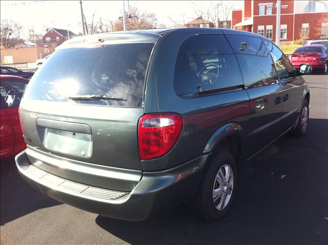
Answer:
[[13, 157], [2, 159], [0, 169], [1, 226], [35, 210], [62, 204], [30, 187], [19, 176]]

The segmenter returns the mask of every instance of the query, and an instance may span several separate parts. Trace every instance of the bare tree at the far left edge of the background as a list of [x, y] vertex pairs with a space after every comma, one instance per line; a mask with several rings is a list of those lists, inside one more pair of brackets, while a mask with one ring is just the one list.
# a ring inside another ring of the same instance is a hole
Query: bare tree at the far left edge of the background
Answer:
[[22, 25], [19, 25], [12, 20], [4, 19], [1, 22], [0, 29], [1, 45], [4, 48], [15, 47], [18, 43], [23, 41], [20, 38], [23, 29]]

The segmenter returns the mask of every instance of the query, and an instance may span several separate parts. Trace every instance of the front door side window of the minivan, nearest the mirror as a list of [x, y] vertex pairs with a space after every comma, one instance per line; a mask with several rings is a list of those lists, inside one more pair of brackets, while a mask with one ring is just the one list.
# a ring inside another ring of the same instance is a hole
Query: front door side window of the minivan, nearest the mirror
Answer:
[[288, 58], [277, 48], [273, 43], [263, 40], [265, 46], [267, 46], [277, 70], [278, 79], [294, 77], [294, 67], [288, 60]]

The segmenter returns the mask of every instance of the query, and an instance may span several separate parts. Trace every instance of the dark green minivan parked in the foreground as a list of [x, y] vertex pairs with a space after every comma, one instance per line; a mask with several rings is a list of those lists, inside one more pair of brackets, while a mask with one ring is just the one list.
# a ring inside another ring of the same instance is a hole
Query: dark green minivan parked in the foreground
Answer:
[[[78, 37], [77, 37], [78, 38]], [[138, 30], [60, 45], [20, 104], [31, 186], [118, 219], [191, 203], [222, 218], [237, 166], [291, 130], [310, 92], [269, 39], [216, 28]]]

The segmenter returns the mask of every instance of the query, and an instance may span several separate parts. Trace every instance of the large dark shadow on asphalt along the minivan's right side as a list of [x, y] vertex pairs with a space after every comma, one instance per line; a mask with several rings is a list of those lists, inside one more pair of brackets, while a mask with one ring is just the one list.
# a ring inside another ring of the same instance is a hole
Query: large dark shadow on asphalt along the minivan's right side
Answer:
[[199, 221], [180, 205], [144, 221], [95, 222], [132, 244], [325, 244], [328, 120], [309, 123], [305, 137], [285, 135], [239, 166], [237, 195], [221, 221]]

